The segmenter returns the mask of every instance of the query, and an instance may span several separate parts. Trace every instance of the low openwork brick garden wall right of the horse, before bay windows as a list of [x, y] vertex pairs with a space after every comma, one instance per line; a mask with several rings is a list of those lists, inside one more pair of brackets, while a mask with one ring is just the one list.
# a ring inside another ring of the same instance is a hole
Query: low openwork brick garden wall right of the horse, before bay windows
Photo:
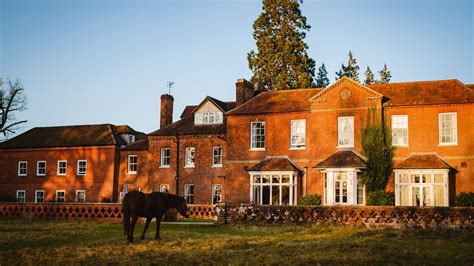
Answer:
[[225, 224], [314, 224], [474, 229], [474, 208], [396, 206], [260, 206], [219, 204]]

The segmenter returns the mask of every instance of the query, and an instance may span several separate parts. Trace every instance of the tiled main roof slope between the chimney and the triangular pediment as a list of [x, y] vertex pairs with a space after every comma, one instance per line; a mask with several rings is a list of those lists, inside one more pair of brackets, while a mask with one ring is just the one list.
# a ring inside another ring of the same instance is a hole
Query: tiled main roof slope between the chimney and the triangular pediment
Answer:
[[309, 98], [322, 89], [293, 89], [261, 92], [248, 102], [227, 112], [227, 115], [309, 111]]

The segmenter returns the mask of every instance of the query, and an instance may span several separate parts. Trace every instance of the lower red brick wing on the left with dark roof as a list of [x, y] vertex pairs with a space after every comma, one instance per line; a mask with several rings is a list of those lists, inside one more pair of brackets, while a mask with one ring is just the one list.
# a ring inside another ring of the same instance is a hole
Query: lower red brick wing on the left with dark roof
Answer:
[[33, 128], [0, 143], [0, 198], [114, 201], [119, 149], [144, 137], [110, 124]]

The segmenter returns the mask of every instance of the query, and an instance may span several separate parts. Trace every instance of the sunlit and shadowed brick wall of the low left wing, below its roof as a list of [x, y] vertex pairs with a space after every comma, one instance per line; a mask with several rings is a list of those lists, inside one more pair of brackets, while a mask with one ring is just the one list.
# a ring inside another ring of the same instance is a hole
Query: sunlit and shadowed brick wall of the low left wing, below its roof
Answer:
[[[66, 201], [75, 200], [76, 190], [86, 190], [86, 201], [112, 198], [115, 147], [71, 147], [0, 150], [0, 197], [15, 200], [17, 190], [26, 191], [33, 202], [35, 190], [44, 190], [45, 201], [54, 201], [56, 190], [65, 190]], [[58, 160], [67, 161], [66, 175], [58, 175]], [[77, 175], [77, 161], [87, 160], [86, 175]], [[18, 162], [27, 161], [27, 175], [18, 176]], [[36, 175], [37, 161], [46, 161], [46, 174]]]

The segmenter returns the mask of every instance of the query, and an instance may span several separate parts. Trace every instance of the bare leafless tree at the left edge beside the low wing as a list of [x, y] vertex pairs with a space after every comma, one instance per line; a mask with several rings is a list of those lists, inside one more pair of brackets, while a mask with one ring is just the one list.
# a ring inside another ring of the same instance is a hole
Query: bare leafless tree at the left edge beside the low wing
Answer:
[[16, 121], [15, 114], [26, 109], [26, 95], [23, 85], [17, 79], [3, 82], [0, 78], [0, 134], [7, 137], [14, 134], [18, 125], [26, 120]]

